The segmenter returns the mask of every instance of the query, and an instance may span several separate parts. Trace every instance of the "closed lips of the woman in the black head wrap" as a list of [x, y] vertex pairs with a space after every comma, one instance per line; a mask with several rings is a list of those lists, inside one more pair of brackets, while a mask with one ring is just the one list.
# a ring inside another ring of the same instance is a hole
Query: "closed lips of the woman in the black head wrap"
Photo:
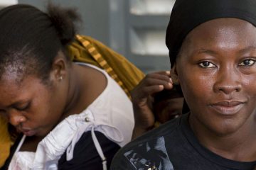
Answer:
[[221, 115], [235, 115], [244, 106], [243, 101], [220, 101], [210, 104], [210, 107]]

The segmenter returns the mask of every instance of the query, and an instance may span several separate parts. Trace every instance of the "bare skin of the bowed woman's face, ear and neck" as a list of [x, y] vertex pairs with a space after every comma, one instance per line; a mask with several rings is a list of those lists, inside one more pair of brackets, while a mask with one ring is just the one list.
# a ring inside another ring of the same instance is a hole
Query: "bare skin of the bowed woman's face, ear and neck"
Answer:
[[101, 72], [68, 62], [62, 52], [55, 57], [47, 82], [33, 74], [16, 81], [18, 76], [16, 72], [3, 75], [0, 111], [28, 136], [22, 151], [36, 151], [38, 142], [55, 125], [68, 115], [83, 111], [107, 86]]

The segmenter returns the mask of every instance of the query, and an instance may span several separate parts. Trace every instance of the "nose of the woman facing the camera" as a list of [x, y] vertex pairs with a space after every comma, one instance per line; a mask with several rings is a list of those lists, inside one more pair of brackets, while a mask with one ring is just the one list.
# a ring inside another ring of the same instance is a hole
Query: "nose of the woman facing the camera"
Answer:
[[214, 84], [214, 91], [223, 94], [232, 94], [242, 89], [240, 73], [236, 69], [228, 67], [220, 69], [217, 74], [217, 80]]

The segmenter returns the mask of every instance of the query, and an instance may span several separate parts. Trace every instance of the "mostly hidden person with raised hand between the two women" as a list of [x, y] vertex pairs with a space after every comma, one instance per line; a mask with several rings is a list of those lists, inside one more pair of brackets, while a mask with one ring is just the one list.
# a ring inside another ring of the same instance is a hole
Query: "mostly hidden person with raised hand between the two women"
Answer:
[[152, 72], [132, 90], [134, 131], [132, 139], [182, 114], [183, 96], [170, 72]]

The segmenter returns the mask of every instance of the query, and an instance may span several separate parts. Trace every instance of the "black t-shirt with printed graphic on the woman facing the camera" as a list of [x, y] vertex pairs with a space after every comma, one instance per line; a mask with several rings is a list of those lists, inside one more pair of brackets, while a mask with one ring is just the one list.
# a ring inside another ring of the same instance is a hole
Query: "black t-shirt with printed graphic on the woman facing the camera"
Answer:
[[120, 149], [111, 169], [252, 170], [255, 166], [256, 162], [225, 159], [200, 145], [186, 114]]

